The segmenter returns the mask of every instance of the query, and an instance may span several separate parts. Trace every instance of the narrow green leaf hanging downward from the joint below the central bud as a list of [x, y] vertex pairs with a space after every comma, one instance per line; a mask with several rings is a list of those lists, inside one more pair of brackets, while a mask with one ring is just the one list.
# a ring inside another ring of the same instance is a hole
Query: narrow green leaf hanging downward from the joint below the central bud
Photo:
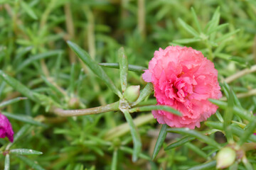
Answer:
[[142, 141], [139, 136], [139, 131], [137, 130], [137, 127], [134, 125], [134, 122], [132, 120], [132, 116], [127, 110], [122, 109], [122, 113], [124, 113], [124, 117], [127, 120], [127, 123], [129, 125], [129, 128], [131, 130], [132, 134], [132, 140], [134, 143], [134, 151], [132, 153], [132, 162], [136, 162], [139, 154], [142, 152]]

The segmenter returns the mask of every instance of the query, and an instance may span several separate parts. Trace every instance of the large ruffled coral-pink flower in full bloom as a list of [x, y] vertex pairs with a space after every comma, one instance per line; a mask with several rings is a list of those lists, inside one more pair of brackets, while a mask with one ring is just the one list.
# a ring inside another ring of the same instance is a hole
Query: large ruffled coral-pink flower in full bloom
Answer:
[[142, 77], [154, 85], [157, 104], [182, 113], [179, 117], [166, 111], [152, 111], [159, 123], [170, 127], [199, 128], [200, 122], [218, 108], [208, 98], [222, 96], [213, 62], [191, 47], [159, 48]]

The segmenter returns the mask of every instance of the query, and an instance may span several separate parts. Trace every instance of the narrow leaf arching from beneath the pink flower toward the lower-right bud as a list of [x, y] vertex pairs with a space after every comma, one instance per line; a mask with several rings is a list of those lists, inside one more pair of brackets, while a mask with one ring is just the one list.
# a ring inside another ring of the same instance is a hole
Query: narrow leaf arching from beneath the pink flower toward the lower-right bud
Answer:
[[196, 139], [201, 140], [202, 142], [206, 142], [210, 146], [220, 148], [220, 145], [217, 142], [215, 142], [215, 140], [211, 139], [206, 135], [203, 135], [201, 132], [198, 132], [196, 130], [190, 130], [188, 128], [169, 128], [167, 129], [167, 131], [188, 135], [190, 137], [196, 137]]

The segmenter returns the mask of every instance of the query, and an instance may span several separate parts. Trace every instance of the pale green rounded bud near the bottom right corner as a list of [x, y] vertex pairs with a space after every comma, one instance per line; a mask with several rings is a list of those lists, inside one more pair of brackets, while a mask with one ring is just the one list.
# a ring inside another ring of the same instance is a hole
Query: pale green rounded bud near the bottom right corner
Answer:
[[235, 162], [235, 150], [230, 147], [223, 147], [217, 154], [217, 169], [228, 168]]

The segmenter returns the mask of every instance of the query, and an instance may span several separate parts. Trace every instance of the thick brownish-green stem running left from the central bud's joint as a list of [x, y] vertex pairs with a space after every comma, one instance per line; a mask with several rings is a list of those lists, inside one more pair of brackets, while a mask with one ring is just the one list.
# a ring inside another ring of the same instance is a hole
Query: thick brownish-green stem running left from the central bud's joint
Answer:
[[109, 111], [119, 111], [118, 107], [119, 107], [119, 101], [105, 105], [105, 106], [78, 109], [78, 110], [63, 110], [62, 108], [53, 107], [50, 109], [50, 112], [53, 112], [56, 115], [69, 117], [69, 116], [78, 116], [78, 115], [94, 115], [97, 113], [105, 113]]

